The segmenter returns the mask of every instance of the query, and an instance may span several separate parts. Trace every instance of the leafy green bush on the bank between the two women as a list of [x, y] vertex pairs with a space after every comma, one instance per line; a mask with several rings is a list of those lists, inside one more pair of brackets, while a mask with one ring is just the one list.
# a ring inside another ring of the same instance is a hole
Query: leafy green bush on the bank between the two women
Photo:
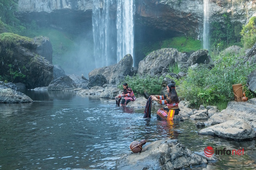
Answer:
[[[149, 95], [152, 95], [161, 93], [163, 80], [164, 78], [162, 76], [152, 77], [148, 75], [142, 78], [141, 76], [136, 75], [133, 77], [126, 76], [124, 82], [126, 82], [128, 86], [132, 88], [135, 95], [144, 94], [144, 90], [146, 90]], [[121, 82], [118, 85], [118, 88], [121, 90], [123, 90], [122, 84], [124, 82]]]

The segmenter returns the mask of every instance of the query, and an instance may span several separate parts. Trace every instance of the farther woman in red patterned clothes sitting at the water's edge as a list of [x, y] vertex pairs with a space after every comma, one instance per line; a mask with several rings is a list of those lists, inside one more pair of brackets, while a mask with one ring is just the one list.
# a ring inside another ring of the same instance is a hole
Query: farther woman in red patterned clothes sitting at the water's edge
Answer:
[[[124, 83], [123, 84], [123, 88], [124, 88], [124, 92], [122, 94], [120, 94], [119, 96], [116, 96], [116, 100], [118, 98], [122, 98], [122, 101], [121, 101], [121, 106], [126, 106], [126, 104], [128, 104], [128, 102], [130, 101], [134, 101], [136, 100], [135, 96], [134, 96], [134, 93], [132, 91], [132, 89], [130, 87], [128, 87], [128, 84], [127, 83]], [[120, 103], [120, 99], [119, 99], [119, 102], [118, 102], [118, 106], [119, 106], [119, 103]]]

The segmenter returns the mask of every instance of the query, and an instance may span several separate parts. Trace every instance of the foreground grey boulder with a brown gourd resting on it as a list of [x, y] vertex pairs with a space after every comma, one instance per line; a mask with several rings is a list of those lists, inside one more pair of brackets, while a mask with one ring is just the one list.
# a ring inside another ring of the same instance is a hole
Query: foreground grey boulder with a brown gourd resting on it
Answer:
[[120, 170], [176, 170], [208, 164], [206, 158], [192, 153], [176, 139], [162, 139], [151, 143], [141, 153], [125, 154], [117, 160]]

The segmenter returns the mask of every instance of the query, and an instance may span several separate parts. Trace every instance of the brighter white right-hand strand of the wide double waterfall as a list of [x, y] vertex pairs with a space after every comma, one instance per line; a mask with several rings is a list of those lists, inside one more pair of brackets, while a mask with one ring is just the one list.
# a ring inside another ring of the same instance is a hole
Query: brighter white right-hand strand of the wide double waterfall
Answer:
[[117, 62], [126, 54], [133, 55], [134, 47], [134, 7], [133, 0], [117, 0]]

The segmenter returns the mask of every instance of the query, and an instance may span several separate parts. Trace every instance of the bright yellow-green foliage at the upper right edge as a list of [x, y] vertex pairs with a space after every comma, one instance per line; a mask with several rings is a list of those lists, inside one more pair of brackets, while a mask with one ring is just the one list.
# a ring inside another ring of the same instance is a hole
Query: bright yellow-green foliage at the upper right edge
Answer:
[[252, 17], [241, 31], [242, 43], [245, 48], [251, 48], [256, 42], [256, 17]]

